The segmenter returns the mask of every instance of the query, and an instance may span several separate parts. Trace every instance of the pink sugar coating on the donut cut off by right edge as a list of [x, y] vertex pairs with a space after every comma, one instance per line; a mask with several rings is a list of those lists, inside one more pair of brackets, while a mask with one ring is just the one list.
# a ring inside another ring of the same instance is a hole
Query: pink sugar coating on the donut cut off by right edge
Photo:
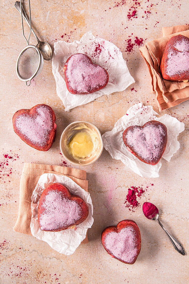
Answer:
[[179, 37], [172, 44], [168, 48], [166, 72], [170, 77], [181, 76], [189, 70], [189, 40]]

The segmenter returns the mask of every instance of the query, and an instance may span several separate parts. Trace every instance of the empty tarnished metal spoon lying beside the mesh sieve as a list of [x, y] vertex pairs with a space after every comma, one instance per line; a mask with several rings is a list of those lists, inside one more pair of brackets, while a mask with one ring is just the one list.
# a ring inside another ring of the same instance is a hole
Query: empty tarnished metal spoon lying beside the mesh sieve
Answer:
[[[16, 9], [18, 10], [18, 12], [20, 12], [21, 14], [21, 9], [20, 9], [20, 2], [16, 1], [14, 6], [16, 7]], [[24, 20], [26, 21], [26, 23], [28, 24], [28, 26], [30, 26], [30, 22], [26, 16], [26, 13], [24, 11], [24, 8], [22, 7], [22, 16], [24, 18]], [[37, 35], [35, 34], [34, 30], [32, 29], [32, 33], [35, 36], [36, 40], [37, 40], [37, 47], [39, 48], [39, 50], [41, 51], [41, 54], [43, 55], [43, 58], [45, 60], [50, 60], [52, 57], [52, 49], [50, 47], [50, 45], [45, 42], [45, 41], [40, 41], [39, 38], [37, 37]]]

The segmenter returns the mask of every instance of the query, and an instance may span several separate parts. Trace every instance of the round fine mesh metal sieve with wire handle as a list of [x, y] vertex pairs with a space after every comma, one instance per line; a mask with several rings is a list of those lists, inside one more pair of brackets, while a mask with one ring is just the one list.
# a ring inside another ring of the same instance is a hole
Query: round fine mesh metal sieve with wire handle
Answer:
[[[16, 73], [18, 78], [21, 81], [26, 82], [26, 85], [29, 86], [31, 80], [38, 76], [43, 69], [43, 56], [41, 55], [41, 51], [35, 45], [30, 45], [29, 40], [31, 36], [31, 13], [30, 13], [30, 0], [29, 3], [29, 14], [30, 14], [30, 34], [28, 39], [26, 39], [24, 35], [24, 27], [23, 27], [23, 18], [22, 19], [22, 32], [23, 36], [27, 41], [27, 46], [22, 50], [20, 55], [18, 56], [18, 60], [16, 63]], [[22, 11], [22, 0], [20, 0], [20, 9]], [[29, 82], [29, 83], [28, 83]]]

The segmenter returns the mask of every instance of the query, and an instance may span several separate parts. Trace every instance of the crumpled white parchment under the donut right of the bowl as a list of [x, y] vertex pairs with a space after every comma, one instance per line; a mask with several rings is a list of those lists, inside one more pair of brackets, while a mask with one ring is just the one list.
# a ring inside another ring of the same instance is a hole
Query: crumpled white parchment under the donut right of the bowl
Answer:
[[116, 122], [112, 131], [108, 131], [102, 135], [104, 148], [110, 153], [112, 158], [121, 160], [133, 172], [145, 178], [159, 177], [161, 160], [154, 166], [140, 161], [127, 150], [123, 142], [123, 131], [131, 125], [143, 126], [149, 120], [157, 120], [165, 124], [167, 127], [167, 145], [162, 157], [168, 162], [180, 148], [177, 136], [184, 131], [184, 123], [177, 120], [177, 118], [168, 114], [164, 114], [161, 117], [157, 117], [156, 115], [159, 114], [153, 110], [152, 106], [144, 106], [142, 103], [135, 104], [127, 110], [127, 114]]

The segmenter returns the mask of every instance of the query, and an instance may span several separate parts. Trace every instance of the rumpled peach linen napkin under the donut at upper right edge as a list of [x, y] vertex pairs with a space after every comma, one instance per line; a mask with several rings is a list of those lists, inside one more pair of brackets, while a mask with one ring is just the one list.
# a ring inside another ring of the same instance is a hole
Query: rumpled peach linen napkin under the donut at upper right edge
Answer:
[[159, 68], [169, 39], [178, 34], [189, 37], [189, 25], [165, 27], [162, 28], [162, 33], [163, 37], [150, 41], [139, 49], [150, 72], [151, 92], [156, 93], [159, 111], [189, 99], [189, 81], [184, 83], [164, 80]]

